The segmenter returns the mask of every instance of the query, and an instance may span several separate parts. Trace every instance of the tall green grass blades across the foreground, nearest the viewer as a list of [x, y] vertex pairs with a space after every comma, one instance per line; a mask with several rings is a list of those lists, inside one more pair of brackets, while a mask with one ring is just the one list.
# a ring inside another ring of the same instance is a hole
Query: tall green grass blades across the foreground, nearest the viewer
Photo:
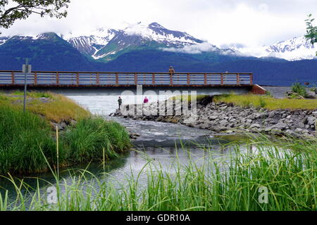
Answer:
[[[48, 204], [39, 188], [29, 198], [17, 188], [18, 200], [11, 204], [2, 195], [0, 210], [25, 210], [21, 203], [28, 200], [30, 210], [317, 210], [316, 139], [285, 140], [282, 146], [267, 139], [223, 146], [228, 147], [235, 148], [229, 161], [213, 158], [213, 150], [206, 148], [203, 165], [175, 161], [163, 170], [149, 160], [139, 175], [119, 187], [116, 180], [105, 182], [80, 171], [72, 182], [59, 184], [57, 190], [64, 191], [58, 192], [57, 204]], [[252, 152], [245, 150], [250, 148]], [[145, 187], [139, 181], [144, 173]], [[267, 202], [261, 190], [267, 191]]]

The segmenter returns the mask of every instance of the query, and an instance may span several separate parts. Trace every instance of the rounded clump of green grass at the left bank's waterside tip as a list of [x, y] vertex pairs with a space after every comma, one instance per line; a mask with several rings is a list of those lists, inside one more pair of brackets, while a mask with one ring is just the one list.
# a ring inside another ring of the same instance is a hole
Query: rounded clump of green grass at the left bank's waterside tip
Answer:
[[108, 159], [130, 148], [125, 128], [101, 117], [80, 120], [63, 134], [63, 140], [70, 147], [70, 159], [75, 162], [102, 159], [104, 148]]

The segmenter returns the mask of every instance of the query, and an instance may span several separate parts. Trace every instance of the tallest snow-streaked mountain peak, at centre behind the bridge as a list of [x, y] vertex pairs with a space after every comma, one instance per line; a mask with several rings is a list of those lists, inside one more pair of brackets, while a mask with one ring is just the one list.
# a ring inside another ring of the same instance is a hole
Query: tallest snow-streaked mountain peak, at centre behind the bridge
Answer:
[[61, 37], [81, 53], [102, 60], [112, 60], [135, 49], [183, 48], [203, 42], [186, 32], [168, 30], [159, 23], [130, 24], [123, 30], [107, 29], [95, 33], [80, 37], [70, 33]]

